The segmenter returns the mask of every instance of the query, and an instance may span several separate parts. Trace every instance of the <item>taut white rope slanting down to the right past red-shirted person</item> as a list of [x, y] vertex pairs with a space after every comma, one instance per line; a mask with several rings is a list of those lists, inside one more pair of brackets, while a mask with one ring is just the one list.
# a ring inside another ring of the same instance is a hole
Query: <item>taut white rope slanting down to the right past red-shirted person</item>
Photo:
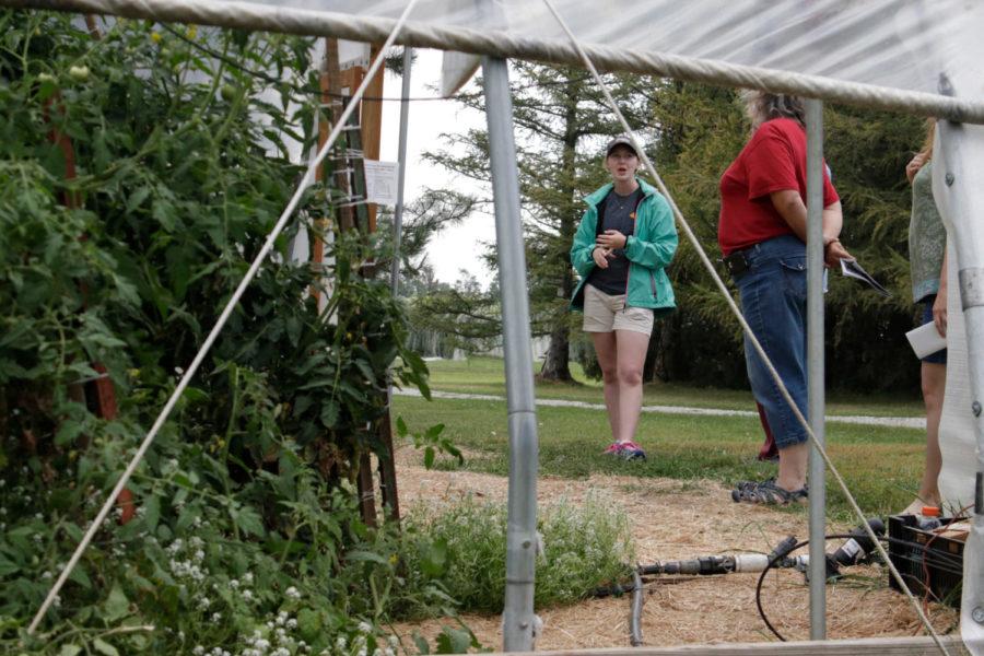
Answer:
[[820, 454], [820, 457], [823, 458], [823, 461], [827, 464], [828, 469], [833, 475], [834, 479], [836, 479], [837, 484], [841, 488], [841, 491], [844, 493], [844, 496], [847, 499], [847, 503], [851, 505], [851, 508], [854, 513], [860, 518], [860, 524], [865, 528], [865, 531], [868, 534], [868, 537], [871, 539], [871, 542], [875, 544], [876, 549], [878, 549], [879, 555], [885, 560], [886, 565], [889, 567], [889, 571], [892, 574], [892, 577], [900, 585], [900, 587], [905, 591], [905, 596], [909, 597], [909, 600], [912, 602], [913, 608], [915, 608], [916, 613], [919, 616], [919, 620], [923, 622], [923, 625], [926, 626], [926, 630], [933, 636], [936, 646], [939, 647], [939, 651], [944, 654], [944, 656], [949, 656], [949, 652], [946, 646], [942, 644], [942, 641], [937, 634], [936, 630], [933, 628], [933, 623], [929, 621], [929, 618], [926, 617], [926, 613], [923, 611], [922, 606], [913, 596], [912, 590], [909, 589], [909, 586], [905, 585], [905, 582], [902, 578], [902, 575], [899, 573], [899, 570], [892, 563], [891, 559], [888, 555], [888, 552], [882, 547], [878, 536], [875, 535], [875, 531], [871, 529], [868, 524], [868, 519], [865, 514], [862, 512], [860, 506], [857, 504], [857, 501], [854, 499], [854, 495], [851, 493], [851, 490], [847, 488], [847, 483], [844, 481], [841, 472], [837, 471], [837, 468], [834, 466], [833, 461], [830, 459], [830, 456], [827, 453], [827, 449], [817, 440], [817, 436], [813, 434], [812, 429], [810, 427], [809, 422], [799, 411], [799, 408], [794, 402], [793, 397], [789, 395], [789, 390], [786, 389], [786, 385], [783, 383], [782, 377], [778, 372], [772, 365], [772, 361], [769, 359], [769, 355], [765, 354], [765, 350], [762, 348], [762, 344], [759, 343], [755, 333], [752, 331], [751, 327], [748, 325], [748, 321], [745, 320], [745, 316], [741, 314], [741, 311], [738, 308], [738, 305], [735, 303], [735, 300], [731, 297], [730, 292], [728, 291], [727, 285], [718, 276], [717, 270], [714, 268], [714, 265], [711, 262], [711, 259], [707, 257], [707, 254], [704, 253], [703, 247], [701, 246], [700, 241], [694, 235], [693, 231], [690, 229], [690, 224], [687, 222], [687, 219], [683, 218], [683, 213], [680, 211], [680, 208], [677, 207], [676, 201], [672, 196], [670, 196], [669, 189], [667, 189], [666, 185], [663, 181], [663, 178], [656, 172], [656, 167], [653, 166], [653, 163], [649, 161], [648, 155], [646, 155], [645, 150], [642, 148], [642, 144], [637, 142], [635, 138], [635, 133], [630, 129], [629, 122], [625, 120], [625, 117], [622, 115], [619, 106], [616, 104], [614, 98], [611, 97], [611, 94], [608, 91], [608, 86], [605, 84], [605, 81], [601, 79], [601, 75], [598, 74], [597, 69], [595, 69], [595, 65], [591, 62], [590, 58], [587, 56], [587, 52], [584, 51], [581, 47], [581, 43], [577, 40], [577, 37], [574, 36], [574, 33], [571, 32], [571, 28], [567, 26], [566, 21], [564, 21], [563, 16], [560, 15], [557, 8], [554, 7], [552, 0], [543, 0], [547, 3], [547, 7], [550, 8], [550, 12], [554, 15], [557, 21], [560, 23], [561, 27], [571, 38], [571, 42], [574, 44], [574, 47], [577, 48], [581, 54], [582, 60], [587, 67], [587, 69], [591, 72], [591, 75], [595, 78], [595, 83], [601, 89], [601, 92], [605, 94], [605, 98], [608, 102], [611, 110], [616, 114], [619, 119], [619, 122], [622, 124], [622, 128], [625, 130], [625, 133], [632, 140], [632, 143], [635, 148], [635, 152], [640, 154], [642, 157], [643, 164], [646, 166], [646, 171], [649, 172], [649, 175], [653, 176], [653, 179], [656, 180], [656, 186], [659, 188], [659, 192], [663, 194], [667, 201], [669, 202], [670, 208], [673, 211], [673, 215], [677, 219], [677, 222], [683, 229], [683, 232], [687, 234], [688, 239], [693, 245], [694, 250], [696, 250], [698, 256], [701, 258], [701, 261], [704, 263], [704, 267], [711, 273], [711, 277], [714, 279], [714, 283], [717, 285], [721, 293], [727, 300], [728, 307], [731, 308], [735, 317], [737, 317], [738, 323], [741, 324], [741, 329], [745, 331], [745, 335], [749, 338], [749, 341], [755, 349], [755, 352], [759, 354], [759, 358], [762, 359], [762, 362], [765, 363], [765, 367], [769, 370], [772, 379], [775, 382], [776, 386], [780, 389], [780, 393], [783, 395], [783, 398], [786, 400], [786, 403], [789, 405], [789, 408], [793, 410], [793, 413], [796, 415], [797, 421], [803, 425], [807, 435], [810, 438], [813, 447], [817, 449], [817, 453]]

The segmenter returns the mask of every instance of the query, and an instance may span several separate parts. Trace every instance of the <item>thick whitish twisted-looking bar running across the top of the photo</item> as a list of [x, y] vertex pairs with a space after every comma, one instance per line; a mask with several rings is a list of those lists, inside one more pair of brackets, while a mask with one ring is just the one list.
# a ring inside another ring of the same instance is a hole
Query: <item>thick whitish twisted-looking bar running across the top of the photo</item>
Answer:
[[[223, 0], [0, 0], [0, 7], [48, 9], [80, 13], [115, 14], [162, 22], [185, 22], [241, 30], [265, 30], [308, 36], [333, 36], [379, 43], [393, 31], [394, 20], [339, 12], [316, 11]], [[984, 104], [946, 95], [904, 91], [875, 84], [834, 80], [724, 61], [639, 51], [600, 45], [576, 46], [566, 39], [519, 36], [502, 30], [472, 30], [457, 25], [410, 22], [396, 43], [457, 50], [503, 59], [527, 59], [582, 66], [582, 52], [607, 71], [656, 74], [725, 86], [790, 93], [847, 105], [984, 124]]]

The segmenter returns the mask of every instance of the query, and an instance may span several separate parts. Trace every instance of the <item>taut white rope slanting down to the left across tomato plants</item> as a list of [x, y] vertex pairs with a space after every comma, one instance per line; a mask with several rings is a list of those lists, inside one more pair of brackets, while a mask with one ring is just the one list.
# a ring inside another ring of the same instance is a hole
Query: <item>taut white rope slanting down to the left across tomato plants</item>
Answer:
[[[383, 54], [393, 46], [397, 34], [403, 26], [403, 23], [407, 21], [407, 16], [410, 15], [410, 12], [413, 10], [413, 7], [418, 3], [418, 1], [419, 0], [410, 0], [407, 4], [407, 8], [403, 10], [400, 19], [396, 22], [396, 25], [394, 25], [393, 32], [390, 32], [389, 36], [386, 38], [385, 45], [379, 49], [379, 55], [376, 57], [375, 61], [373, 61], [368, 72], [366, 72], [365, 79], [363, 79], [362, 84], [360, 84], [359, 89], [355, 90], [355, 93], [352, 94], [351, 102], [349, 102], [341, 116], [339, 116], [336, 120], [335, 128], [328, 134], [328, 139], [325, 141], [325, 145], [321, 147], [315, 159], [312, 160], [308, 164], [307, 175], [304, 176], [304, 180], [311, 179], [311, 177], [313, 177], [314, 172], [318, 168], [318, 166], [321, 165], [321, 162], [325, 160], [328, 151], [335, 144], [338, 136], [341, 134], [342, 130], [345, 128], [345, 122], [349, 120], [352, 112], [354, 112], [359, 106], [359, 98], [361, 98], [365, 93], [365, 90], [368, 87], [373, 77], [379, 70], [379, 67], [383, 66]], [[55, 585], [52, 585], [51, 589], [48, 591], [48, 596], [45, 598], [44, 604], [42, 604], [42, 607], [38, 609], [37, 614], [34, 616], [34, 619], [31, 621], [31, 625], [27, 628], [28, 634], [34, 633], [34, 631], [37, 629], [37, 625], [44, 619], [45, 613], [48, 612], [48, 608], [50, 608], [51, 604], [55, 602], [55, 598], [58, 596], [58, 593], [61, 590], [61, 587], [68, 579], [69, 574], [72, 573], [72, 570], [79, 563], [79, 559], [82, 558], [82, 553], [89, 547], [90, 542], [92, 542], [93, 536], [95, 536], [96, 531], [103, 525], [103, 522], [105, 522], [106, 516], [109, 514], [109, 511], [113, 509], [113, 504], [116, 502], [116, 497], [119, 496], [119, 493], [122, 492], [127, 482], [130, 480], [130, 477], [133, 476], [133, 472], [137, 470], [137, 466], [143, 459], [143, 456], [144, 454], [147, 454], [148, 448], [150, 448], [150, 445], [153, 443], [154, 437], [157, 436], [157, 432], [164, 425], [164, 422], [167, 421], [171, 411], [174, 409], [181, 394], [185, 391], [185, 388], [188, 387], [191, 378], [195, 377], [195, 373], [198, 371], [199, 365], [202, 363], [204, 356], [211, 350], [212, 344], [219, 337], [219, 333], [222, 332], [222, 329], [225, 327], [225, 323], [232, 315], [233, 309], [235, 309], [236, 305], [238, 305], [239, 303], [239, 298], [246, 292], [246, 288], [248, 288], [249, 283], [253, 282], [253, 279], [256, 277], [257, 271], [259, 271], [260, 265], [262, 265], [263, 260], [267, 259], [267, 256], [273, 249], [273, 244], [277, 242], [277, 237], [279, 237], [280, 233], [283, 232], [283, 229], [286, 226], [288, 221], [293, 215], [294, 210], [297, 209], [297, 203], [301, 201], [304, 189], [304, 181], [298, 183], [297, 188], [294, 190], [294, 195], [291, 197], [290, 202], [288, 202], [283, 212], [280, 214], [280, 219], [278, 219], [277, 223], [273, 225], [273, 230], [270, 231], [269, 235], [267, 235], [267, 241], [263, 243], [263, 247], [260, 248], [260, 251], [253, 260], [253, 263], [249, 266], [249, 269], [246, 271], [243, 280], [239, 281], [239, 285], [236, 288], [236, 291], [233, 292], [233, 295], [225, 304], [222, 314], [219, 315], [219, 319], [215, 321], [215, 325], [212, 327], [209, 336], [206, 338], [204, 342], [202, 342], [201, 348], [198, 350], [198, 353], [196, 353], [195, 359], [191, 361], [191, 364], [188, 365], [188, 368], [185, 371], [185, 375], [181, 376], [181, 379], [178, 383], [177, 387], [174, 388], [171, 398], [167, 399], [167, 403], [164, 405], [164, 408], [161, 410], [161, 413], [157, 415], [157, 419], [154, 421], [151, 430], [148, 432], [147, 437], [144, 437], [143, 442], [140, 444], [140, 448], [138, 448], [137, 453], [133, 454], [130, 464], [127, 466], [126, 470], [124, 470], [122, 476], [119, 477], [116, 487], [113, 488], [113, 492], [110, 492], [109, 496], [106, 497], [106, 502], [99, 509], [98, 515], [96, 515], [96, 518], [92, 522], [89, 530], [85, 531], [85, 535], [82, 537], [82, 540], [75, 548], [74, 553], [72, 553], [72, 558], [69, 559], [69, 562], [65, 565], [65, 569], [62, 569], [61, 574], [55, 582]]]

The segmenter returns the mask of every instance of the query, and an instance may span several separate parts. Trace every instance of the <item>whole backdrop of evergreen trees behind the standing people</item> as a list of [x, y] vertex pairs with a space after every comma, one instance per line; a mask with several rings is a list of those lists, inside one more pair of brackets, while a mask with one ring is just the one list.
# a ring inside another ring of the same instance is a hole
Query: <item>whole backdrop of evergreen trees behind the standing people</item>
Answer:
[[[599, 377], [581, 315], [567, 311], [575, 282], [567, 250], [584, 210], [582, 199], [608, 179], [599, 152], [621, 128], [582, 71], [518, 62], [511, 65], [511, 75], [531, 331], [551, 339], [541, 373], [569, 379], [570, 345], [585, 372]], [[612, 75], [609, 84], [630, 124], [648, 140], [651, 155], [702, 247], [716, 260], [718, 183], [749, 137], [736, 92], [641, 75]], [[484, 107], [480, 94], [459, 99]], [[915, 395], [918, 363], [904, 338], [916, 315], [910, 294], [911, 200], [904, 167], [923, 141], [924, 121], [828, 105], [824, 125], [824, 153], [844, 207], [842, 241], [893, 294], [882, 298], [831, 272], [825, 305], [829, 386]], [[484, 130], [446, 136], [446, 143], [448, 149], [429, 154], [433, 162], [478, 181], [489, 179]], [[494, 266], [494, 253], [487, 260]], [[656, 325], [647, 378], [746, 387], [738, 324], [682, 234], [669, 272], [678, 312]], [[729, 282], [723, 266], [718, 272]], [[413, 297], [412, 306], [415, 326], [442, 339], [454, 336], [466, 349], [481, 350], [500, 335], [494, 281], [488, 291], [431, 285]]]

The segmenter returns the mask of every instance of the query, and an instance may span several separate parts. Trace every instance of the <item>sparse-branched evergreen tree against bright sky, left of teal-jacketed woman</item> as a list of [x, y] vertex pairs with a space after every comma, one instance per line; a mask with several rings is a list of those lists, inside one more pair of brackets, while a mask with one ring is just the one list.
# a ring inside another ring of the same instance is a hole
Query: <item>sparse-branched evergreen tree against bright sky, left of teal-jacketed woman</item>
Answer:
[[[584, 213], [583, 198], [607, 179], [601, 166], [604, 144], [621, 128], [584, 71], [511, 62], [511, 73], [532, 333], [550, 336], [539, 375], [543, 379], [570, 380], [571, 328], [576, 319], [567, 311], [575, 288], [567, 254]], [[633, 80], [639, 83], [637, 78]], [[629, 89], [628, 78], [612, 78], [611, 82], [620, 90], [620, 97], [628, 98], [622, 109], [630, 120], [644, 124], [645, 98], [622, 93]], [[460, 101], [484, 109], [480, 93], [466, 94]], [[461, 154], [443, 150], [429, 157], [460, 175], [489, 183], [487, 132], [470, 130], [446, 138]], [[488, 253], [487, 258], [495, 263], [494, 251]], [[454, 319], [458, 330], [461, 325], [470, 325], [472, 336], [499, 335], [497, 323], [489, 320], [488, 314], [497, 309], [497, 297], [457, 295], [445, 301], [449, 303], [429, 306], [432, 319], [437, 316], [435, 313], [445, 313], [448, 324], [452, 313], [458, 312], [464, 317]]]

